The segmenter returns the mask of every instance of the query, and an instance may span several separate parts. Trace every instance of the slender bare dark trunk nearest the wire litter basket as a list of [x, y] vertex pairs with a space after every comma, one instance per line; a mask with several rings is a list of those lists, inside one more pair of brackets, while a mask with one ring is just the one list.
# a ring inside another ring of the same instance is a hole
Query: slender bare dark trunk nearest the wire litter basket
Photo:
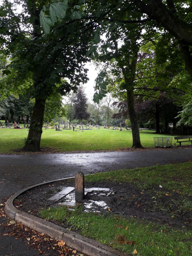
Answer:
[[134, 108], [134, 88], [127, 90], [127, 105], [129, 118], [131, 121], [131, 131], [133, 136], [132, 148], [143, 148], [140, 141], [139, 125], [137, 122], [137, 116]]

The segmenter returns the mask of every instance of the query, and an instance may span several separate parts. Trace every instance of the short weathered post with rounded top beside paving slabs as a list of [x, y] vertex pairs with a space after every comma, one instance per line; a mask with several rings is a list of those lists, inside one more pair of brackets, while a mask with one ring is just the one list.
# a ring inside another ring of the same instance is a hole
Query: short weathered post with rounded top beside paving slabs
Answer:
[[75, 175], [75, 197], [77, 203], [84, 199], [84, 173], [80, 171]]

